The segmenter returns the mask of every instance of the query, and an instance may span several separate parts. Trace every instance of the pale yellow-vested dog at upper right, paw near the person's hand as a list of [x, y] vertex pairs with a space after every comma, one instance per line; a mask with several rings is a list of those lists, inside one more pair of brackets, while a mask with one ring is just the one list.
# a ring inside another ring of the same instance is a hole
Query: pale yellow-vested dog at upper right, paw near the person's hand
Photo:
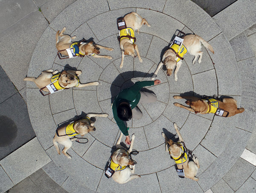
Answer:
[[[202, 55], [203, 55], [203, 52], [201, 51], [201, 48], [202, 48], [201, 43], [214, 54], [212, 46], [208, 42], [206, 42], [203, 38], [193, 34], [186, 35], [183, 40], [183, 46], [180, 48], [180, 51], [178, 53], [179, 57], [177, 57], [177, 51], [179, 46], [177, 47], [177, 44], [173, 44], [171, 48], [166, 50], [165, 53], [163, 54], [163, 60], [161, 60], [161, 62], [157, 66], [157, 69], [154, 72], [153, 76], [151, 77], [151, 80], [154, 80], [155, 77], [157, 77], [157, 73], [163, 65], [166, 65], [167, 76], [170, 76], [172, 74], [172, 71], [177, 65], [174, 72], [174, 79], [175, 81], [177, 81], [178, 80], [177, 72], [179, 71], [180, 66], [182, 64], [182, 60], [183, 60], [182, 57], [186, 54], [187, 51], [189, 52], [189, 54], [195, 56], [192, 63], [195, 64], [195, 61], [199, 56], [198, 63], [200, 64], [202, 60]], [[180, 57], [180, 55], [182, 55], [182, 57]]]

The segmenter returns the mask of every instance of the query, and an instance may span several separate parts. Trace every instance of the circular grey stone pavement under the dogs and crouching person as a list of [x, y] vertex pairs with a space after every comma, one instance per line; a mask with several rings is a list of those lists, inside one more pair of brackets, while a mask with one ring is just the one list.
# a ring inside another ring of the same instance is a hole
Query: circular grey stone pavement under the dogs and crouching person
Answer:
[[[125, 2], [116, 4], [115, 1], [89, 5], [78, 0], [55, 18], [39, 40], [28, 76], [37, 77], [41, 71], [49, 68], [59, 71], [78, 69], [82, 71], [82, 83], [100, 82], [98, 86], [73, 88], [45, 97], [41, 96], [32, 82], [27, 82], [29, 115], [38, 140], [52, 161], [76, 180], [77, 184], [98, 192], [169, 192], [174, 189], [184, 191], [188, 187], [192, 192], [204, 192], [227, 173], [244, 150], [246, 143], [235, 144], [232, 148], [236, 153], [227, 155], [226, 147], [233, 143], [232, 139], [243, 135], [236, 128], [240, 115], [227, 119], [212, 114], [195, 115], [173, 105], [174, 102], [184, 104], [184, 100], [172, 98], [173, 95], [183, 93], [236, 96], [234, 98], [238, 104], [241, 99], [241, 83], [235, 71], [237, 64], [233, 62], [235, 59], [232, 54], [223, 59], [220, 53], [223, 46], [231, 50], [229, 42], [208, 14], [191, 1], [183, 1], [183, 10], [177, 14], [175, 10], [180, 10], [179, 4], [169, 1], [159, 1], [157, 5], [148, 2], [132, 6]], [[88, 7], [90, 11], [84, 11]], [[74, 18], [69, 17], [74, 10], [83, 17], [77, 17], [74, 21]], [[121, 51], [117, 40], [116, 18], [131, 11], [144, 17], [151, 28], [143, 26], [140, 35], [135, 33], [143, 62], [128, 56], [124, 59], [124, 67], [120, 69]], [[67, 27], [67, 34], [77, 36], [76, 40], [93, 38], [96, 44], [114, 48], [112, 52], [101, 49], [102, 55], [110, 55], [113, 60], [91, 56], [60, 60], [56, 56], [55, 34], [64, 26]], [[200, 35], [209, 41], [215, 54], [209, 54], [202, 48], [202, 62], [196, 62], [195, 65], [192, 65], [193, 57], [187, 54], [177, 74], [177, 82], [173, 75], [167, 77], [166, 71], [161, 69], [157, 74], [161, 84], [146, 88], [157, 95], [157, 102], [139, 105], [143, 118], [127, 122], [130, 135], [136, 135], [134, 149], [140, 151], [133, 157], [137, 161], [135, 173], [143, 176], [127, 184], [117, 184], [103, 174], [111, 156], [111, 147], [120, 134], [113, 119], [111, 102], [122, 89], [130, 87], [134, 82], [150, 80], [163, 55], [163, 49], [176, 30]], [[224, 62], [228, 63], [225, 68]], [[226, 84], [227, 79], [235, 85]], [[63, 154], [58, 155], [52, 146], [56, 127], [87, 113], [108, 113], [109, 116], [96, 117], [96, 131], [85, 136], [89, 140], [87, 144], [73, 143], [67, 151], [72, 156], [71, 160]], [[169, 137], [175, 136], [173, 122], [180, 128], [186, 146], [199, 158], [201, 168], [197, 174], [200, 179], [198, 182], [179, 179], [174, 162], [165, 152], [161, 132]], [[222, 164], [227, 161], [229, 164]]]

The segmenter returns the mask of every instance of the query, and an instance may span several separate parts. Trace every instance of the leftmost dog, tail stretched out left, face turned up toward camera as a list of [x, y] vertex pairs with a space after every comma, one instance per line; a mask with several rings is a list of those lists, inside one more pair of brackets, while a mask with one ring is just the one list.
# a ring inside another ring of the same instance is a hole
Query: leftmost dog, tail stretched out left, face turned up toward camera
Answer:
[[[26, 77], [23, 80], [25, 81], [32, 81], [35, 82], [38, 88], [44, 88], [45, 86], [49, 85], [50, 83], [56, 81], [54, 84], [57, 90], [63, 90], [65, 88], [71, 87], [85, 87], [85, 86], [92, 86], [92, 85], [99, 85], [99, 82], [90, 82], [86, 84], [81, 84], [79, 82], [79, 76], [82, 74], [82, 71], [63, 71], [58, 73], [58, 70], [54, 71], [49, 69], [47, 71], [42, 71], [42, 73], [37, 77]], [[43, 91], [48, 92], [47, 88], [44, 88]]]

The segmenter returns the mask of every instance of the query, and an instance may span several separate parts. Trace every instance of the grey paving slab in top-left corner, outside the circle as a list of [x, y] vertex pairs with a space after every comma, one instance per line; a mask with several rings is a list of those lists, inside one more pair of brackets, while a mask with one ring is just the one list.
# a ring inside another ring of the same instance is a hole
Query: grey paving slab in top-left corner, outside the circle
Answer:
[[0, 3], [0, 33], [17, 23], [23, 17], [28, 15], [38, 7], [32, 0], [17, 1], [1, 1]]

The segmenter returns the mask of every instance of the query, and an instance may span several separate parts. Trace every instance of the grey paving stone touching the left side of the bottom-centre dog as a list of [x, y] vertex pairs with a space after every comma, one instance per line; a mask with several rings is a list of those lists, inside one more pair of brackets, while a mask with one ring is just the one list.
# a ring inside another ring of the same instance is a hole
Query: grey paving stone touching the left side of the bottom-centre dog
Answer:
[[90, 164], [105, 170], [106, 163], [110, 156], [111, 148], [95, 140], [82, 158]]

